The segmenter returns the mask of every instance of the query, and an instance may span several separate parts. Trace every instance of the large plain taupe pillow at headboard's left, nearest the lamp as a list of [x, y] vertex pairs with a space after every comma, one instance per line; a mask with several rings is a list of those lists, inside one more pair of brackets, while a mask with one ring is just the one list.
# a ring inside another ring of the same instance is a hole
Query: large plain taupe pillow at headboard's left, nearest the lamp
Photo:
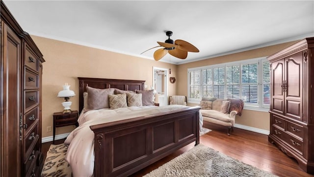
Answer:
[[86, 90], [88, 94], [86, 110], [109, 108], [108, 94], [113, 94], [114, 89], [95, 89], [87, 86]]

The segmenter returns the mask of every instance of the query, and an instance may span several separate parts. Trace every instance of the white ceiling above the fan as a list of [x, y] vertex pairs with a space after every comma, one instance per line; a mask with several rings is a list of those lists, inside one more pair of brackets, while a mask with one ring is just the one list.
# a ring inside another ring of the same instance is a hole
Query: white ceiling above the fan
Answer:
[[182, 39], [186, 63], [314, 36], [314, 1], [9, 1], [29, 34], [153, 59], [157, 41]]

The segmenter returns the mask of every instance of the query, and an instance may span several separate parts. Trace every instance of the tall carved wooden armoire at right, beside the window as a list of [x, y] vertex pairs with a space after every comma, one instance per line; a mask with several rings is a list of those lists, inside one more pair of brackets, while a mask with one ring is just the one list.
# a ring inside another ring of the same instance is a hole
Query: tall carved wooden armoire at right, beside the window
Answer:
[[268, 141], [314, 173], [314, 37], [269, 56]]

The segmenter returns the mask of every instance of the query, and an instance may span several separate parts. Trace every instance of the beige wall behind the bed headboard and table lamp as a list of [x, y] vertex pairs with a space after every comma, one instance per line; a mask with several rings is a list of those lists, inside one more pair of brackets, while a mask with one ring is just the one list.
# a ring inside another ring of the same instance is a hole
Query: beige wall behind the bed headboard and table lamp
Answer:
[[[168, 68], [169, 63], [142, 59], [105, 50], [71, 44], [58, 40], [31, 36], [46, 62], [43, 63], [43, 108], [42, 137], [52, 136], [47, 132], [53, 126], [52, 115], [63, 110], [62, 98], [57, 94], [64, 83], [77, 96], [71, 97], [72, 110], [78, 110], [78, 77], [96, 77], [108, 79], [145, 80], [148, 87], [153, 85], [153, 66]], [[171, 76], [176, 76], [177, 65], [171, 65]], [[168, 81], [169, 82], [169, 81]], [[175, 94], [176, 84], [168, 84], [169, 95]], [[56, 128], [56, 135], [69, 133], [74, 125]]]

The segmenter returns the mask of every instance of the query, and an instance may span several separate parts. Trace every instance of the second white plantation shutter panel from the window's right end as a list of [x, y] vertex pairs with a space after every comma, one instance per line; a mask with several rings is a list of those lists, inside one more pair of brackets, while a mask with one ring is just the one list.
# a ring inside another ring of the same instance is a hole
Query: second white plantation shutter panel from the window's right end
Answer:
[[245, 103], [258, 103], [258, 63], [242, 64], [242, 99]]

